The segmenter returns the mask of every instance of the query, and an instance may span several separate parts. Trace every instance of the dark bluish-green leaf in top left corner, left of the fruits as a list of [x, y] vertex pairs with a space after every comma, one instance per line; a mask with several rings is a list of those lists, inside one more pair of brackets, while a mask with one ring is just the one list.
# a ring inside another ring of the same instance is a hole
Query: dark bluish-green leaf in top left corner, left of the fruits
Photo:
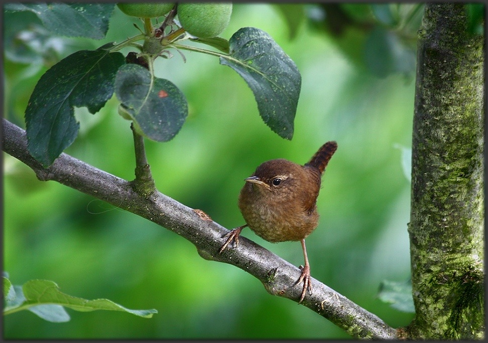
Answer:
[[7, 4], [6, 11], [31, 11], [44, 26], [61, 36], [102, 39], [115, 4]]

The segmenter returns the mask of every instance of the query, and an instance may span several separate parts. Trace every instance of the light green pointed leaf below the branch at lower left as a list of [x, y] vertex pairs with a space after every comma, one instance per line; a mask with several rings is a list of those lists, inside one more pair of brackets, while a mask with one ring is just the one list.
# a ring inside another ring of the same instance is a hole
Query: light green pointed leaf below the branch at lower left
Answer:
[[[30, 280], [22, 286], [24, 301], [5, 309], [4, 314], [28, 309], [45, 320], [62, 322], [69, 320], [64, 307], [75, 311], [88, 312], [110, 310], [128, 312], [140, 317], [151, 318], [156, 310], [131, 310], [108, 299], [86, 300], [59, 291], [58, 285], [48, 280]], [[19, 292], [18, 292], [19, 293]]]

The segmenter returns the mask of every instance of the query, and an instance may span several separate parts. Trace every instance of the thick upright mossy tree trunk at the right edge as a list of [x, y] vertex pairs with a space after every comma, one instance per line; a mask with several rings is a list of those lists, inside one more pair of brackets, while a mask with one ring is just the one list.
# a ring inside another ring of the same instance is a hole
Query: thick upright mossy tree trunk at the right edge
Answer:
[[409, 224], [412, 339], [484, 337], [484, 37], [463, 4], [419, 31]]

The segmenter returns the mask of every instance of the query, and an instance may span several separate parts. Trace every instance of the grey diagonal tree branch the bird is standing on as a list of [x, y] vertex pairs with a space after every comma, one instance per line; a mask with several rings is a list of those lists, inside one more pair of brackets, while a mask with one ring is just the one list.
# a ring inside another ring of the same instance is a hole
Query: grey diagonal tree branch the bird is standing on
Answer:
[[[212, 221], [201, 210], [193, 210], [157, 190], [144, 198], [130, 182], [108, 174], [62, 153], [44, 169], [27, 151], [25, 131], [3, 120], [2, 149], [30, 166], [41, 181], [56, 181], [97, 199], [106, 201], [163, 226], [193, 243], [206, 260], [228, 263], [259, 279], [272, 295], [293, 301], [300, 299], [302, 288], [295, 286], [301, 271], [269, 250], [240, 237], [236, 248], [219, 254], [227, 229]], [[303, 305], [329, 319], [356, 338], [396, 339], [397, 330], [376, 315], [356, 305], [326, 285], [311, 278], [313, 295]]]

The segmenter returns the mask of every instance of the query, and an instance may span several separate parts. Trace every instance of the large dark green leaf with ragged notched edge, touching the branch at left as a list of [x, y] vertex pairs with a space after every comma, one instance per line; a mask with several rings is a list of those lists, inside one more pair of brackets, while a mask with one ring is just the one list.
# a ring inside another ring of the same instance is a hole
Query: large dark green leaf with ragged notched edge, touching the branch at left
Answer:
[[79, 123], [73, 106], [99, 111], [114, 93], [114, 79], [124, 64], [120, 52], [81, 50], [62, 59], [41, 76], [26, 109], [31, 155], [44, 167], [76, 138]]

